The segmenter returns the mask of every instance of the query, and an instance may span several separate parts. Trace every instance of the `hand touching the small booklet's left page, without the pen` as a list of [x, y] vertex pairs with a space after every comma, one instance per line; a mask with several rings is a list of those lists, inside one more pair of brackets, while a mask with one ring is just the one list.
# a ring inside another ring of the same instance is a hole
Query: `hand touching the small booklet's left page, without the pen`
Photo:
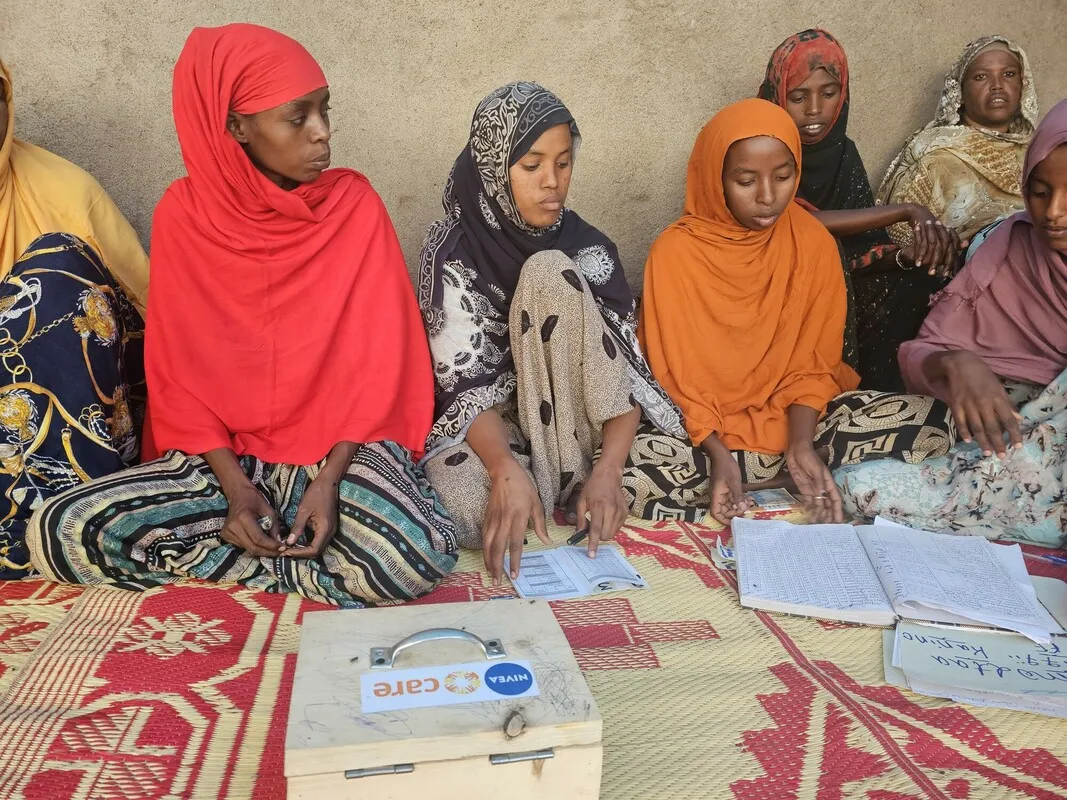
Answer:
[[504, 577], [504, 554], [511, 556], [509, 574], [519, 577], [523, 558], [523, 539], [530, 521], [534, 532], [545, 544], [552, 544], [544, 521], [544, 507], [534, 481], [514, 459], [507, 459], [490, 474], [491, 489], [481, 527], [481, 553], [485, 569], [499, 586]]

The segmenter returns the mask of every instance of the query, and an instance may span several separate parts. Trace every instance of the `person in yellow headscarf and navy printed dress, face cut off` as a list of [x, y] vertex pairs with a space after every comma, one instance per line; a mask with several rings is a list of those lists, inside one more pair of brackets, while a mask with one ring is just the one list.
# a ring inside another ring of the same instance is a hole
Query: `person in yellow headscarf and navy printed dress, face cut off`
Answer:
[[30, 570], [26, 522], [44, 499], [138, 452], [130, 385], [148, 259], [91, 175], [15, 139], [0, 63], [0, 579]]

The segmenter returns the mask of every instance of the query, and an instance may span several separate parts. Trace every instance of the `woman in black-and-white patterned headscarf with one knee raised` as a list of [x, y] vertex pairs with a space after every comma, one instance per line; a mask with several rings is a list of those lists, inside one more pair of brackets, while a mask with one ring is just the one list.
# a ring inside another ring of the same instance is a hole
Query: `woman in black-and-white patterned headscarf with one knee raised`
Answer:
[[493, 92], [475, 111], [445, 219], [430, 226], [420, 259], [436, 374], [427, 474], [461, 544], [483, 546], [495, 578], [507, 549], [517, 571], [529, 521], [546, 540], [544, 515], [557, 503], [579, 528], [589, 517], [590, 549], [615, 535], [640, 411], [685, 435], [641, 355], [615, 244], [563, 206], [580, 142], [544, 87]]

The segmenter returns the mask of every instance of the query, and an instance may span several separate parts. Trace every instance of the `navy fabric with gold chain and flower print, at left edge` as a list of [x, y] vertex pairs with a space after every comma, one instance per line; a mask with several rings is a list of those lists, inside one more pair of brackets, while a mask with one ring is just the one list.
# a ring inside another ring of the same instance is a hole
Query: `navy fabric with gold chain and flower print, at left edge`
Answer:
[[0, 283], [0, 578], [31, 572], [25, 533], [35, 508], [137, 461], [143, 331], [74, 236], [36, 239]]

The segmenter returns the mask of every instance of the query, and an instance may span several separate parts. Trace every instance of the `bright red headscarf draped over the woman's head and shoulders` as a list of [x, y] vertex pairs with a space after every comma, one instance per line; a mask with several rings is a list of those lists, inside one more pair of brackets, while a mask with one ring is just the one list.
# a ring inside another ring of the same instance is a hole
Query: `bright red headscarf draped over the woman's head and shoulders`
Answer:
[[343, 441], [425, 447], [429, 351], [381, 198], [352, 170], [286, 192], [226, 131], [229, 110], [325, 85], [300, 44], [258, 26], [197, 28], [181, 51], [188, 177], [153, 221], [145, 458], [229, 447], [312, 464]]

